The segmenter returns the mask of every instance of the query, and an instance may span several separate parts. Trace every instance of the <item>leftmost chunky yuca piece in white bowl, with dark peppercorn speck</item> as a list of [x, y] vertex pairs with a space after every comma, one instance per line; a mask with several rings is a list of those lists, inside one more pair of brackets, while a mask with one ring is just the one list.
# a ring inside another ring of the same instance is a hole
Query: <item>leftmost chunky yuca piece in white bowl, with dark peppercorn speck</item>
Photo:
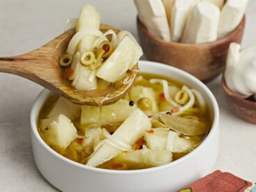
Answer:
[[56, 150], [65, 150], [74, 139], [78, 138], [76, 127], [63, 114], [40, 120], [40, 127], [45, 142]]

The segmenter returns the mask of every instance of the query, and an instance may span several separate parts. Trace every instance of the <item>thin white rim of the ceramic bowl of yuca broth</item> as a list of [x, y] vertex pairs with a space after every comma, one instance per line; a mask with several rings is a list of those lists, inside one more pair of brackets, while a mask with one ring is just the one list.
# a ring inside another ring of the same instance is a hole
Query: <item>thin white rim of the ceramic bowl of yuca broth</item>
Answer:
[[[178, 68], [170, 66], [170, 65], [166, 65], [166, 64], [158, 63], [158, 62], [154, 62], [154, 61], [140, 60], [138, 65], [140, 65], [140, 64], [147, 65], [150, 67], [156, 67], [156, 65], [159, 65], [163, 69], [166, 69], [166, 70], [171, 69], [173, 72], [186, 77], [186, 79], [192, 80], [195, 84], [202, 87], [204, 89], [205, 93], [209, 96], [209, 99], [211, 99], [211, 102], [213, 105], [214, 121], [212, 123], [211, 130], [209, 131], [209, 133], [207, 134], [205, 139], [202, 141], [202, 143], [200, 143], [200, 145], [198, 145], [198, 147], [196, 147], [194, 150], [189, 152], [189, 154], [186, 154], [184, 157], [181, 157], [175, 161], [171, 161], [170, 163], [166, 163], [164, 165], [157, 166], [157, 167], [145, 168], [145, 169], [139, 169], [139, 170], [108, 170], [108, 169], [103, 169], [103, 168], [90, 167], [90, 166], [86, 166], [81, 163], [77, 163], [76, 161], [72, 161], [70, 159], [67, 159], [66, 157], [63, 157], [61, 154], [58, 154], [58, 152], [51, 149], [51, 147], [49, 147], [49, 145], [47, 145], [47, 143], [45, 143], [45, 141], [42, 140], [42, 138], [38, 132], [38, 128], [36, 125], [37, 120], [38, 120], [38, 113], [42, 107], [42, 104], [44, 104], [44, 102], [45, 102], [45, 98], [47, 98], [47, 96], [51, 95], [50, 91], [47, 89], [43, 89], [40, 92], [40, 94], [38, 95], [38, 97], [35, 98], [35, 102], [32, 106], [31, 115], [30, 115], [31, 131], [32, 131], [33, 135], [35, 136], [35, 138], [38, 140], [39, 144], [42, 145], [43, 147], [45, 147], [45, 150], [48, 150], [56, 158], [61, 159], [62, 161], [65, 161], [66, 163], [70, 163], [72, 166], [77, 166], [81, 169], [92, 170], [92, 171], [99, 172], [99, 173], [111, 173], [111, 174], [127, 174], [128, 175], [128, 174], [134, 174], [134, 173], [147, 173], [147, 172], [151, 172], [154, 170], [166, 168], [169, 166], [175, 166], [175, 164], [179, 163], [180, 161], [184, 161], [185, 159], [188, 159], [189, 157], [193, 156], [196, 152], [198, 152], [198, 150], [200, 150], [201, 147], [203, 147], [203, 145], [205, 145], [204, 143], [208, 142], [213, 130], [218, 129], [219, 109], [218, 109], [218, 103], [216, 101], [216, 98], [214, 97], [213, 93], [211, 93], [211, 90], [209, 90], [209, 88], [204, 83], [202, 83], [202, 81], [200, 81], [193, 75], [189, 74], [188, 72], [179, 70]], [[179, 81], [179, 82], [182, 82], [182, 81]]]

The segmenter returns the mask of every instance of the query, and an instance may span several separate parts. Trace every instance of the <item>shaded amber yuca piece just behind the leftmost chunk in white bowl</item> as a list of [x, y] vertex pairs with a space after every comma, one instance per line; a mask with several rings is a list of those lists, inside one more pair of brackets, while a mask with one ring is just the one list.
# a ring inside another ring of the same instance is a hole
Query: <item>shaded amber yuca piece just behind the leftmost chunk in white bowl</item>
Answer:
[[47, 115], [47, 118], [54, 118], [59, 114], [65, 115], [71, 121], [79, 118], [81, 114], [81, 105], [73, 104], [64, 97], [58, 97], [53, 108]]

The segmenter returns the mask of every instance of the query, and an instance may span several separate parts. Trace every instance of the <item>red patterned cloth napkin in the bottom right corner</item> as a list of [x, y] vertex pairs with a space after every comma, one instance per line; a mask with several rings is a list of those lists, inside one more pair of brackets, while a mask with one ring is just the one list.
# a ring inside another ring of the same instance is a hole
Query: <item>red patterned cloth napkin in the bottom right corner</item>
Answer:
[[241, 179], [231, 173], [221, 172], [216, 170], [197, 182], [185, 186], [179, 192], [253, 192], [256, 191], [256, 186], [252, 182]]

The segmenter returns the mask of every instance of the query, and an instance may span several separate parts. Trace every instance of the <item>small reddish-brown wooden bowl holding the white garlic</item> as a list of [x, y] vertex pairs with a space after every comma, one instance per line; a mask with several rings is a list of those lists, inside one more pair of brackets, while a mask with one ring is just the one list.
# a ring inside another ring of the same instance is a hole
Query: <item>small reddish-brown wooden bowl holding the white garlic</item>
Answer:
[[224, 75], [222, 77], [221, 85], [223, 94], [230, 109], [241, 119], [247, 122], [256, 124], [256, 102], [253, 99], [243, 99], [234, 94], [230, 88], [227, 87]]

